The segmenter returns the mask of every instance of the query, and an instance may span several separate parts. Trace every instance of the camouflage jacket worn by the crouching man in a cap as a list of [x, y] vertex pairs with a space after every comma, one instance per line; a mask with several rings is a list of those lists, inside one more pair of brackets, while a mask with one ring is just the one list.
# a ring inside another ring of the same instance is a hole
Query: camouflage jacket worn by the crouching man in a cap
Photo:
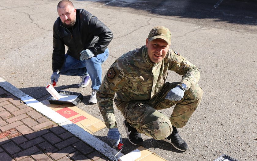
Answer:
[[161, 90], [169, 70], [183, 75], [181, 83], [186, 84], [187, 89], [200, 78], [198, 68], [171, 49], [160, 63], [150, 61], [145, 46], [119, 57], [106, 73], [96, 94], [107, 128], [117, 127], [113, 108], [115, 93], [115, 102], [150, 101]]

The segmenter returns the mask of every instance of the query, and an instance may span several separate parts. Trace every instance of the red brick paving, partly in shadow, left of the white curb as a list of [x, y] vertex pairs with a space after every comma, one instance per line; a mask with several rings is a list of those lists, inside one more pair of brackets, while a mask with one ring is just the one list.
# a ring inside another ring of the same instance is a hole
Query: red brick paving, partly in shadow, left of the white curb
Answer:
[[109, 161], [1, 87], [0, 160]]

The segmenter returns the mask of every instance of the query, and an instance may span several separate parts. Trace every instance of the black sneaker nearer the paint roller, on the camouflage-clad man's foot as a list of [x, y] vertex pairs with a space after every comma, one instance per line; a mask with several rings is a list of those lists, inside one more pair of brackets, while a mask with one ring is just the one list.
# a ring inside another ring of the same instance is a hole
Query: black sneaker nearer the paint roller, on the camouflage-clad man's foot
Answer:
[[138, 146], [143, 145], [141, 134], [135, 128], [132, 128], [126, 120], [123, 121], [123, 125], [126, 129], [129, 142]]

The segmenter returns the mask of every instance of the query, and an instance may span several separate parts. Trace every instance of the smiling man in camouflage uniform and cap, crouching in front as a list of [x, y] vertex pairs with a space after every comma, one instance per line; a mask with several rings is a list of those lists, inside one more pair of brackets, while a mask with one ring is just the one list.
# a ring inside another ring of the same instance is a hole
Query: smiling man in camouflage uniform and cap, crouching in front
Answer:
[[[122, 141], [113, 99], [125, 117], [123, 125], [132, 144], [142, 145], [140, 133], [143, 133], [164, 140], [180, 151], [188, 149], [177, 128], [186, 125], [201, 101], [203, 91], [197, 84], [200, 72], [183, 56], [169, 49], [170, 44], [170, 30], [156, 26], [150, 31], [145, 46], [118, 58], [104, 77], [96, 96], [109, 128], [107, 138], [114, 146]], [[182, 75], [181, 81], [165, 83], [168, 71]], [[173, 105], [170, 118], [158, 111]]]

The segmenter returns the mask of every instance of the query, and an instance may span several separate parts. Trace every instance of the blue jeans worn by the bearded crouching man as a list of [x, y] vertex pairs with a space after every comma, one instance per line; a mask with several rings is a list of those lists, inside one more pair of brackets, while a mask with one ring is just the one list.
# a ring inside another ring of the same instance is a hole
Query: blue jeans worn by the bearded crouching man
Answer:
[[61, 75], [77, 75], [84, 76], [88, 75], [91, 78], [92, 90], [98, 90], [102, 83], [102, 63], [104, 63], [109, 56], [109, 49], [106, 48], [105, 52], [94, 56], [90, 59], [80, 61], [78, 59], [65, 54], [64, 63], [61, 67]]

